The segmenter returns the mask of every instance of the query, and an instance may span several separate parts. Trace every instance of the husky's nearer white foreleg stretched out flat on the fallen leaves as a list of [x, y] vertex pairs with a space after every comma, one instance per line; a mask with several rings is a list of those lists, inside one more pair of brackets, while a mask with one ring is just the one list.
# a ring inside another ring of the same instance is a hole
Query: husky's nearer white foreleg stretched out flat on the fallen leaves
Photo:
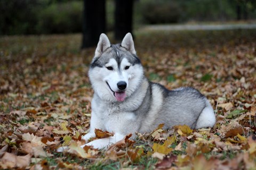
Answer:
[[107, 148], [108, 146], [112, 145], [113, 143], [116, 143], [119, 140], [122, 140], [124, 137], [125, 137], [125, 135], [123, 135], [123, 134], [115, 133], [113, 137], [97, 139], [97, 140], [91, 141], [89, 143], [86, 143], [85, 145], [82, 145], [81, 147], [83, 148], [84, 146], [93, 146], [93, 148], [98, 148], [98, 149]]

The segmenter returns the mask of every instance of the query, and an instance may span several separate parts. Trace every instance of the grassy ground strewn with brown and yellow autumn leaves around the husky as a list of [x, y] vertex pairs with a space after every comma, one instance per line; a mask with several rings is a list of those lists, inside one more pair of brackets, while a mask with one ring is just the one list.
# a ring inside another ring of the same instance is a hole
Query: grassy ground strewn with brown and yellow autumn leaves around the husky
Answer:
[[[217, 123], [159, 125], [108, 150], [79, 147], [90, 125], [94, 53], [80, 43], [81, 35], [0, 38], [0, 168], [255, 169], [256, 30], [137, 31], [147, 77], [197, 88]], [[57, 153], [60, 146], [70, 150]]]

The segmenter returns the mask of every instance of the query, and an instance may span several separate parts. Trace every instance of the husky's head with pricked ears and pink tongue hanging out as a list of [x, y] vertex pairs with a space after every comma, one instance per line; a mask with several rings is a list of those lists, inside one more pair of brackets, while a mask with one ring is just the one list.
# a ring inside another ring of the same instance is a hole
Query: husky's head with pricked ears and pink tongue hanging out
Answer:
[[103, 100], [122, 102], [139, 87], [143, 68], [136, 55], [131, 33], [121, 44], [111, 45], [102, 33], [89, 69], [94, 92]]

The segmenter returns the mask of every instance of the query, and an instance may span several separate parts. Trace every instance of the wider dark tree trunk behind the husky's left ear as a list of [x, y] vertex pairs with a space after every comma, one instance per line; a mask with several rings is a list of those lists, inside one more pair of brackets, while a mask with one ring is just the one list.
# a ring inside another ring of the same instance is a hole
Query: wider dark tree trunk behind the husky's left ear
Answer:
[[106, 31], [105, 0], [84, 0], [82, 48], [97, 46]]

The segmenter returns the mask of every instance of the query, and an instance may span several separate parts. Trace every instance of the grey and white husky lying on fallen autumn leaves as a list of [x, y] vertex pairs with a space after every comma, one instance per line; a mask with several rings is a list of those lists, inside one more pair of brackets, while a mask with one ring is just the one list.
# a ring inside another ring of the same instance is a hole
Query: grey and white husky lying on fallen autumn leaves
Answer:
[[87, 146], [106, 148], [129, 133], [134, 137], [135, 132], [150, 132], [159, 124], [165, 129], [183, 124], [200, 129], [215, 124], [213, 108], [198, 90], [167, 90], [148, 81], [131, 33], [115, 45], [104, 33], [100, 35], [89, 78], [94, 95], [90, 131], [83, 139], [95, 137], [95, 129], [113, 132], [114, 136], [91, 141]]

